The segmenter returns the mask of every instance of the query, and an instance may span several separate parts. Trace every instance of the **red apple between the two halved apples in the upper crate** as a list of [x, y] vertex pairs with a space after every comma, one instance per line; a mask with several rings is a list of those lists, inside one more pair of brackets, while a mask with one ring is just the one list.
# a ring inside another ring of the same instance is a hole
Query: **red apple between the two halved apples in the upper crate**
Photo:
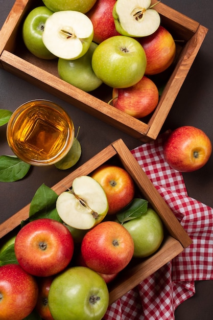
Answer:
[[101, 43], [107, 38], [120, 35], [115, 29], [112, 9], [116, 0], [97, 0], [87, 16], [92, 21], [94, 36], [93, 41]]

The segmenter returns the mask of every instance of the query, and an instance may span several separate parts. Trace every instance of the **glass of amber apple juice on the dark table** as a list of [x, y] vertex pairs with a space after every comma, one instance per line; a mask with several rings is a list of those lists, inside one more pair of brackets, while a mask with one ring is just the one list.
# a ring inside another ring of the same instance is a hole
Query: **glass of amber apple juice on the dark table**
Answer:
[[7, 126], [7, 141], [14, 154], [34, 166], [52, 165], [72, 147], [72, 119], [56, 103], [31, 100], [19, 106]]

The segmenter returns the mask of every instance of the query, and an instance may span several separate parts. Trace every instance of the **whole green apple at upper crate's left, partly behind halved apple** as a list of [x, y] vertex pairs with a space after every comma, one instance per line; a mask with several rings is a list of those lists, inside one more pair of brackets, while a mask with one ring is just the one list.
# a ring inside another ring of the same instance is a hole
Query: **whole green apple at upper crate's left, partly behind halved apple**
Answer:
[[36, 57], [42, 59], [56, 58], [48, 49], [46, 49], [42, 34], [46, 19], [53, 14], [50, 9], [40, 6], [28, 14], [22, 27], [22, 38], [27, 49]]

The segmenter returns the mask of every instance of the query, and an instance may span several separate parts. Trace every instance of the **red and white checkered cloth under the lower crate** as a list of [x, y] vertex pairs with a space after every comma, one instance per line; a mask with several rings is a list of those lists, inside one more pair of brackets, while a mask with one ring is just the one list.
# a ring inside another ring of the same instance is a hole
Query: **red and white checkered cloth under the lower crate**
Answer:
[[193, 244], [110, 305], [104, 320], [172, 320], [178, 305], [194, 295], [194, 282], [213, 279], [213, 209], [188, 197], [182, 174], [164, 161], [163, 139], [131, 152]]

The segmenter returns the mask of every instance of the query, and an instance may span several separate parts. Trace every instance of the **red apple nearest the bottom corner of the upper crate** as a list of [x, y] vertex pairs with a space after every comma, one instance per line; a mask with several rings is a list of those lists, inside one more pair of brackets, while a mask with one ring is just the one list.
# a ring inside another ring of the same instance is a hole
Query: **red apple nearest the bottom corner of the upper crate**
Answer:
[[155, 83], [144, 76], [129, 88], [113, 88], [112, 98], [115, 108], [139, 119], [148, 116], [156, 108], [159, 93]]

